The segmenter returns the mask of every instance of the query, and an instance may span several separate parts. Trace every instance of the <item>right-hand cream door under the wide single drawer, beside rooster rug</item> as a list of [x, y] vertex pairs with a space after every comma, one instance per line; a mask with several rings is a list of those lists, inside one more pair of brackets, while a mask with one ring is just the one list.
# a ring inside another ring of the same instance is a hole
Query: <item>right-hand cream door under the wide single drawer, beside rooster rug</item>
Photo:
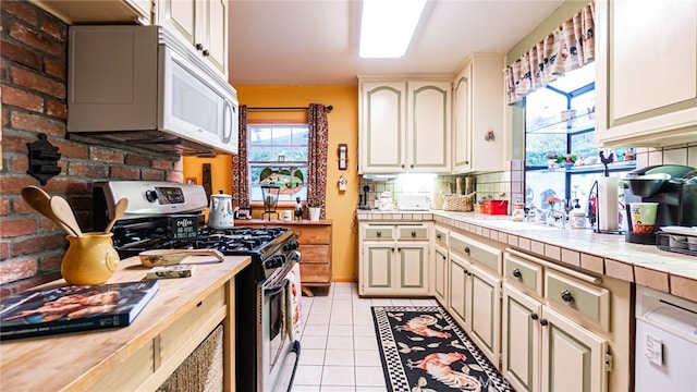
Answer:
[[501, 279], [469, 266], [469, 299], [466, 322], [470, 338], [499, 368], [501, 347]]

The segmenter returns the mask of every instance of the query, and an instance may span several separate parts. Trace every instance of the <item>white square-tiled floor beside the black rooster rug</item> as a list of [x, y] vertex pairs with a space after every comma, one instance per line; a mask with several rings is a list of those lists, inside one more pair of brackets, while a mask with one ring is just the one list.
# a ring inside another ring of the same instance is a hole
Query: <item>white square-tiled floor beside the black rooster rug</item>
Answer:
[[384, 392], [384, 375], [370, 306], [437, 305], [436, 299], [360, 298], [358, 285], [334, 282], [303, 296], [301, 359], [294, 392]]

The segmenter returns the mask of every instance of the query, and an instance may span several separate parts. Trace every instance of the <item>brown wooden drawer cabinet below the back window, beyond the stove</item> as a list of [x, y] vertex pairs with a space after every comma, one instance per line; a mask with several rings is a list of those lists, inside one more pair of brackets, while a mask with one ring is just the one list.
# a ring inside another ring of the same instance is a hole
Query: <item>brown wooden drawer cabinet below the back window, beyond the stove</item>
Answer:
[[293, 229], [299, 244], [301, 285], [303, 293], [313, 296], [313, 287], [331, 285], [331, 232], [332, 221], [266, 221], [261, 219], [236, 220], [237, 226], [283, 226]]

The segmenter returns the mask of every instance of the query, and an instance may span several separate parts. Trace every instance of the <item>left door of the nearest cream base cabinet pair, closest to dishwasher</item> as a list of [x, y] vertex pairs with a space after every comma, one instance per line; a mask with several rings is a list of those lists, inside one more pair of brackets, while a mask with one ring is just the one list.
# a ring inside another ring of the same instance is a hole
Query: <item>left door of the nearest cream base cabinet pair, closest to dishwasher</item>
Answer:
[[503, 285], [501, 372], [516, 391], [540, 391], [542, 304]]

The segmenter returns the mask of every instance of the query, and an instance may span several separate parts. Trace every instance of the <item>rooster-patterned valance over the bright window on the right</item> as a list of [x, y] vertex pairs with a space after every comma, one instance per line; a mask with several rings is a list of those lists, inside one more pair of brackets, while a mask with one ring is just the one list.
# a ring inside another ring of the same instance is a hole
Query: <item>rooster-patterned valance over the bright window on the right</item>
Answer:
[[591, 1], [503, 70], [509, 103], [595, 60], [595, 10]]

